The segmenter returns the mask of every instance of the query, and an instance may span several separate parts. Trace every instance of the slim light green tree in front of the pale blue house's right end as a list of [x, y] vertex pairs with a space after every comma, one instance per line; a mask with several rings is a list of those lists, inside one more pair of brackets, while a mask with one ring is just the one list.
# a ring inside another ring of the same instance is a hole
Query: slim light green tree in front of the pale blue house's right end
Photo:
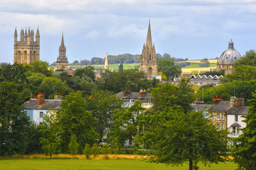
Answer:
[[52, 153], [57, 153], [60, 149], [61, 139], [60, 127], [58, 127], [58, 121], [55, 113], [50, 111], [49, 116], [44, 116], [44, 121], [40, 125], [40, 144], [43, 146], [43, 150], [46, 155], [52, 157]]

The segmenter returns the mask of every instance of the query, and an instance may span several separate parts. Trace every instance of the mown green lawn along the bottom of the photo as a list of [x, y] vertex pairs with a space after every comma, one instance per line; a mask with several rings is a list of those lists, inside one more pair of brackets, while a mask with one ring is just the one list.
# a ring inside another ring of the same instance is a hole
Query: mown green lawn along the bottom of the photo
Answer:
[[[212, 164], [200, 169], [236, 169], [233, 162]], [[0, 169], [188, 169], [188, 164], [179, 167], [164, 164], [151, 164], [146, 160], [116, 159], [116, 160], [84, 160], [84, 159], [0, 159]]]

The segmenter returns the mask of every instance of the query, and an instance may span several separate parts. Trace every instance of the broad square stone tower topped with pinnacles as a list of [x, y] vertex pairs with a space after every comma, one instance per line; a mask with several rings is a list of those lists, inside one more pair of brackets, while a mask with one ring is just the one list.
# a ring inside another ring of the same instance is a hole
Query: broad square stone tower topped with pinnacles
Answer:
[[14, 54], [13, 54], [13, 63], [23, 63], [30, 64], [34, 61], [40, 60], [40, 35], [37, 28], [36, 31], [36, 40], [34, 41], [34, 30], [21, 29], [20, 31], [20, 41], [17, 40], [17, 28], [14, 32]]

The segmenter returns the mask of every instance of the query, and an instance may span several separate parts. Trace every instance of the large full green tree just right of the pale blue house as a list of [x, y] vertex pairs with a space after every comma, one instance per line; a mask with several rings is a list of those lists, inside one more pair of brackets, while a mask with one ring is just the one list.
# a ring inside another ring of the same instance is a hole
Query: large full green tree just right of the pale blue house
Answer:
[[86, 109], [86, 100], [80, 91], [71, 92], [63, 97], [60, 109], [56, 111], [62, 152], [67, 152], [72, 134], [76, 135], [79, 144], [79, 153], [83, 152], [86, 143], [94, 143], [99, 135], [93, 128], [92, 112]]

